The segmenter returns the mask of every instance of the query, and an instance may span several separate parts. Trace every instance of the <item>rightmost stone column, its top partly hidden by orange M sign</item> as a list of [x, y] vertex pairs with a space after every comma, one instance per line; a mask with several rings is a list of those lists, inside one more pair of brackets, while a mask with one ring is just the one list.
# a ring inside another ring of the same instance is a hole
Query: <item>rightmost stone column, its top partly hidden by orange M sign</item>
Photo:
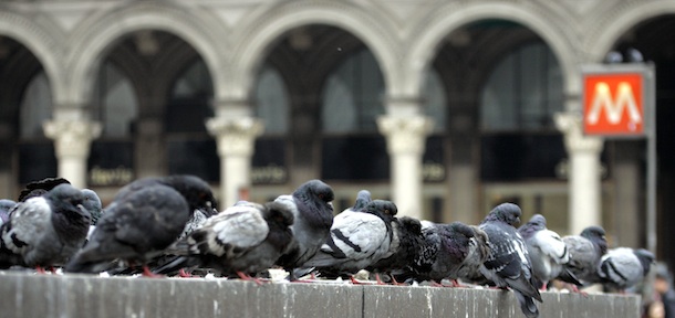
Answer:
[[600, 152], [603, 139], [584, 136], [578, 113], [555, 115], [555, 126], [564, 134], [569, 157], [569, 232], [579, 234], [590, 225], [602, 225]]

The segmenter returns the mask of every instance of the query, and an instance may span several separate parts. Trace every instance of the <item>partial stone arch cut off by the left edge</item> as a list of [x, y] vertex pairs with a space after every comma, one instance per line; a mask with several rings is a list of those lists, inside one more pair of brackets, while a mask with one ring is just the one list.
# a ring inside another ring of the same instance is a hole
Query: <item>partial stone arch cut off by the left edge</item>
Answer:
[[[49, 23], [49, 20], [45, 22]], [[52, 98], [59, 97], [63, 92], [63, 82], [59, 81], [63, 70], [61, 57], [65, 36], [59, 33], [55, 24], [51, 28], [38, 25], [30, 19], [12, 12], [0, 12], [0, 34], [12, 38], [25, 45], [42, 64], [46, 78], [51, 85]]]

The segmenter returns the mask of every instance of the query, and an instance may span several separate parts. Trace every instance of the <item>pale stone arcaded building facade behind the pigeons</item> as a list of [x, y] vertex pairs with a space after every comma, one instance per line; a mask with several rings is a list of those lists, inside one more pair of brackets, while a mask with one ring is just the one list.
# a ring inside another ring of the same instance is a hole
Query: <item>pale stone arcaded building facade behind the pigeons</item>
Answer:
[[673, 30], [667, 0], [1, 1], [0, 195], [194, 173], [228, 205], [319, 178], [336, 210], [364, 188], [439, 222], [513, 201], [645, 246], [644, 140], [580, 130], [581, 66], [616, 52], [655, 65], [671, 262]]

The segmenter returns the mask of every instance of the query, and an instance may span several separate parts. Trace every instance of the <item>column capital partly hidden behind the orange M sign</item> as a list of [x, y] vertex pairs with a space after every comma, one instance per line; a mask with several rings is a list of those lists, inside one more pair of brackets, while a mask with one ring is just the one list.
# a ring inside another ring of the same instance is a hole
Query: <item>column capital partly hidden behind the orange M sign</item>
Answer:
[[583, 117], [579, 113], [555, 114], [555, 127], [564, 134], [564, 145], [570, 152], [602, 151], [603, 138], [583, 134]]

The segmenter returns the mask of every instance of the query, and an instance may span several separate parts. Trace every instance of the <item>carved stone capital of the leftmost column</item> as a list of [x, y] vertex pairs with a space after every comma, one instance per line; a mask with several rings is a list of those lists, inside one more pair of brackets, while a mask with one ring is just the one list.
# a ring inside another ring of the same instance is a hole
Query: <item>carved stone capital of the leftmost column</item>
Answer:
[[58, 158], [86, 158], [91, 141], [101, 136], [103, 126], [85, 119], [59, 119], [44, 121], [42, 129], [46, 137], [54, 139]]

